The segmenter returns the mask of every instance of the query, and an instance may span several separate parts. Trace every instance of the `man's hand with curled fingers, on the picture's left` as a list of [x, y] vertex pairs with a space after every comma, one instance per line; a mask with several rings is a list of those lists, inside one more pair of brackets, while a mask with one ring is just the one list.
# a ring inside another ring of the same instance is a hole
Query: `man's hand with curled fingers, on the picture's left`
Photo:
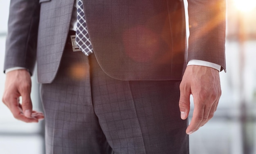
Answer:
[[[2, 102], [10, 109], [16, 119], [25, 122], [38, 122], [43, 119], [43, 113], [32, 111], [31, 77], [26, 69], [18, 69], [6, 74]], [[19, 98], [22, 98], [22, 104]]]

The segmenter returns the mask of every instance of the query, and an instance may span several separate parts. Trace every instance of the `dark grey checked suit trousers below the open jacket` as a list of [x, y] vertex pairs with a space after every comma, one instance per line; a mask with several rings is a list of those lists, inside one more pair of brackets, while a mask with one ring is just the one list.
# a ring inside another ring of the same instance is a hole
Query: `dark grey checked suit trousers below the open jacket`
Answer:
[[41, 85], [46, 153], [188, 154], [179, 85], [111, 78], [67, 43], [56, 78]]

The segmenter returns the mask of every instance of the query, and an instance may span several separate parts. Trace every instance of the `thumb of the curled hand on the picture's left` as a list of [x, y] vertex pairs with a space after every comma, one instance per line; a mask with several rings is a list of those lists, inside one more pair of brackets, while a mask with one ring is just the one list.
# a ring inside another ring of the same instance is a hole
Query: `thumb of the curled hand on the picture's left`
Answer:
[[31, 117], [32, 114], [32, 102], [30, 93], [24, 93], [22, 96], [22, 111], [26, 117]]

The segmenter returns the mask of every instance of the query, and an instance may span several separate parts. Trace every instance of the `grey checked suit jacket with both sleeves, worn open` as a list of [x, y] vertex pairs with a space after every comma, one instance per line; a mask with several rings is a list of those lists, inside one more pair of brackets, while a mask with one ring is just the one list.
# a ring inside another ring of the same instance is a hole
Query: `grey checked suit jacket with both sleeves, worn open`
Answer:
[[[188, 0], [189, 50], [183, 0], [83, 0], [94, 54], [120, 80], [180, 80], [187, 60], [225, 69], [225, 0]], [[4, 70], [38, 64], [38, 81], [54, 80], [74, 0], [13, 0]]]

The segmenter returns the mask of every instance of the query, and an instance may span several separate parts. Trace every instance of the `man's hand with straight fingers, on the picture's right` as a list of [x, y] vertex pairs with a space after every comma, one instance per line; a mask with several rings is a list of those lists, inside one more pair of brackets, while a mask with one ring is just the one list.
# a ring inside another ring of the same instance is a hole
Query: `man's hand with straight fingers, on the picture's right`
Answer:
[[189, 65], [180, 83], [181, 119], [186, 119], [190, 110], [190, 95], [193, 95], [194, 111], [191, 123], [186, 129], [191, 134], [204, 126], [217, 109], [220, 100], [220, 76], [217, 69]]

